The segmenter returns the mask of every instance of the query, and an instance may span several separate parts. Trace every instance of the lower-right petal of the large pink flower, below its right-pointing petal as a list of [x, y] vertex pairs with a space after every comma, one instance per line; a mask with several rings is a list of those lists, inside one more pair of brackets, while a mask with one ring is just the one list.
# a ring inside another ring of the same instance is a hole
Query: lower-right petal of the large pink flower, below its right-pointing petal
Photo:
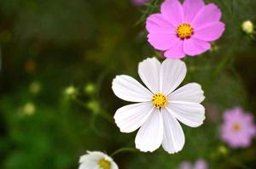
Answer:
[[191, 56], [202, 54], [210, 48], [209, 42], [201, 41], [200, 39], [190, 38], [184, 40], [184, 53]]

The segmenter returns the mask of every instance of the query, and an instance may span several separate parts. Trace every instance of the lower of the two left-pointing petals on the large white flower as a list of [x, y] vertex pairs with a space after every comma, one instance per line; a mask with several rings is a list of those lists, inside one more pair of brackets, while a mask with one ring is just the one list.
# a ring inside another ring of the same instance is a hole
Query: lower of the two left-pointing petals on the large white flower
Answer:
[[153, 110], [151, 102], [130, 104], [119, 108], [113, 118], [121, 132], [134, 132], [147, 121]]

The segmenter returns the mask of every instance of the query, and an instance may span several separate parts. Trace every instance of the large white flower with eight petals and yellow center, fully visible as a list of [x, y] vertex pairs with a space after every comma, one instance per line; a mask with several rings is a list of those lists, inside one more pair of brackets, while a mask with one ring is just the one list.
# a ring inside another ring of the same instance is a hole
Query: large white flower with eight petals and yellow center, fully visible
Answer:
[[[137, 102], [119, 108], [114, 120], [121, 132], [134, 132], [136, 148], [153, 152], [162, 144], [170, 154], [183, 149], [183, 129], [178, 121], [189, 127], [199, 127], [205, 119], [201, 85], [193, 82], [174, 91], [186, 75], [186, 65], [179, 59], [166, 59], [162, 64], [145, 59], [138, 65], [143, 87], [131, 76], [116, 76], [113, 93], [120, 99]], [[178, 121], [177, 121], [178, 120]]]

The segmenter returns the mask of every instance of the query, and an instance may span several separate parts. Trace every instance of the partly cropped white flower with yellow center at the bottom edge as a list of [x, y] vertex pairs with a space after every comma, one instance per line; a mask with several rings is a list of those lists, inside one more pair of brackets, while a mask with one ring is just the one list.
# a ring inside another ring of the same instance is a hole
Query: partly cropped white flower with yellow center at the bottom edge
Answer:
[[113, 159], [100, 151], [87, 151], [80, 157], [79, 169], [118, 169]]

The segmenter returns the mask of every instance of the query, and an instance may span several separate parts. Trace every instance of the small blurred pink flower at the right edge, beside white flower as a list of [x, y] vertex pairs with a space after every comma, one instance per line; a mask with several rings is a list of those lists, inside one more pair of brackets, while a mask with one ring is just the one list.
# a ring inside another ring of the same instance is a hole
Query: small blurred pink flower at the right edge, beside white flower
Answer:
[[232, 148], [248, 147], [256, 136], [253, 115], [244, 113], [240, 107], [224, 112], [221, 138]]

